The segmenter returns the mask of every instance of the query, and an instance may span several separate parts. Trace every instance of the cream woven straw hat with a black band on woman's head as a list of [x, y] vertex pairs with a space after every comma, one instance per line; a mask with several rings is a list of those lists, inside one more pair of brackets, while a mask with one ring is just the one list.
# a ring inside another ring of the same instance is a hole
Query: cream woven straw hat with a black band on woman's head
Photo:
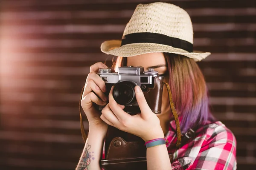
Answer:
[[125, 27], [122, 40], [103, 42], [101, 51], [121, 57], [166, 52], [195, 61], [211, 54], [193, 51], [193, 28], [189, 14], [178, 6], [160, 2], [139, 4]]

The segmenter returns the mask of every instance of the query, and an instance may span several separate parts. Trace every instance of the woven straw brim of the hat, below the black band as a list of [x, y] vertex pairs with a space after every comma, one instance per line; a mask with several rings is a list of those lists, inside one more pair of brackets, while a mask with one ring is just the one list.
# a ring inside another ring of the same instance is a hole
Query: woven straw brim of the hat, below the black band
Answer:
[[101, 51], [105, 54], [111, 54], [120, 57], [131, 57], [140, 54], [162, 52], [180, 54], [195, 61], [201, 61], [208, 57], [211, 53], [202, 51], [193, 51], [191, 53], [180, 49], [174, 48], [169, 45], [155, 44], [155, 43], [132, 43], [121, 46], [121, 40], [108, 40], [102, 43]]

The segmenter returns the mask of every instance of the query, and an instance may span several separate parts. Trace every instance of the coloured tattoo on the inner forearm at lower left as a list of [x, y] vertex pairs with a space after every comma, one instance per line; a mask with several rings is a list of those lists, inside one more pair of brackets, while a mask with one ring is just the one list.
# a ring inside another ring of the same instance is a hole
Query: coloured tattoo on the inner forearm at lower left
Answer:
[[81, 156], [81, 159], [79, 161], [79, 164], [77, 166], [77, 170], [89, 170], [88, 169], [88, 166], [90, 164], [90, 159], [94, 160], [94, 157], [93, 157], [93, 153], [94, 152], [89, 152], [89, 149], [90, 149], [91, 145], [89, 145], [88, 143], [86, 144], [86, 147], [84, 149], [84, 152]]

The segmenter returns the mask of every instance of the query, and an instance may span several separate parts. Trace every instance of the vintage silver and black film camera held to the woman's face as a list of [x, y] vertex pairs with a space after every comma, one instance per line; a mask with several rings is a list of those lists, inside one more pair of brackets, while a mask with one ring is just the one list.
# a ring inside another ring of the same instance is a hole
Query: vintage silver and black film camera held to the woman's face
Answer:
[[[148, 106], [154, 113], [161, 113], [163, 95], [163, 76], [159, 76], [157, 71], [149, 68], [144, 71], [141, 66], [119, 67], [118, 72], [111, 72], [111, 68], [99, 69], [98, 75], [104, 80], [108, 96], [111, 87], [113, 97], [120, 105], [125, 105], [124, 111], [134, 115], [141, 113], [136, 101], [134, 87], [139, 85], [143, 91]], [[98, 106], [102, 110], [105, 106]]]

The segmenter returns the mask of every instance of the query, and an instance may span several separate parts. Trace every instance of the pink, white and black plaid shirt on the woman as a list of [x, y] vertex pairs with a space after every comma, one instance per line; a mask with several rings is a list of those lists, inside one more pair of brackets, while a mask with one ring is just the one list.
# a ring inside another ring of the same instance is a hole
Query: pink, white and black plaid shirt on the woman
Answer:
[[219, 121], [199, 127], [195, 138], [177, 150], [176, 126], [173, 120], [166, 139], [169, 141], [166, 144], [169, 154], [174, 153], [173, 170], [236, 170], [236, 138]]

